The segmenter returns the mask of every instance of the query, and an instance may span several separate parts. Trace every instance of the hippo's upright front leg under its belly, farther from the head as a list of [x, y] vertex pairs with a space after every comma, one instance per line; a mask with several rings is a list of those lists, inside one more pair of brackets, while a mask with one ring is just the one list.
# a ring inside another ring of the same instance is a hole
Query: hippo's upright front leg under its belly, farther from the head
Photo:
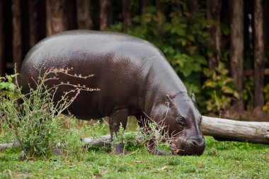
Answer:
[[[113, 136], [118, 134], [120, 129], [120, 124], [123, 129], [126, 128], [127, 125], [127, 117], [128, 110], [114, 110], [109, 117], [109, 129], [111, 135], [111, 142], [113, 142]], [[122, 142], [119, 144], [111, 144], [111, 153], [112, 154], [122, 154], [123, 153], [123, 144]]]

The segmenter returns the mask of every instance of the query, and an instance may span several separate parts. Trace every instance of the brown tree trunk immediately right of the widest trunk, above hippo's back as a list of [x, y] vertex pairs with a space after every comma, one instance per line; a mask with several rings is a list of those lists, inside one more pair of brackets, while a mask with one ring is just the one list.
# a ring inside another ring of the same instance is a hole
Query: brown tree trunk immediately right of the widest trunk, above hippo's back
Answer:
[[92, 29], [91, 0], [76, 0], [76, 21], [79, 29]]

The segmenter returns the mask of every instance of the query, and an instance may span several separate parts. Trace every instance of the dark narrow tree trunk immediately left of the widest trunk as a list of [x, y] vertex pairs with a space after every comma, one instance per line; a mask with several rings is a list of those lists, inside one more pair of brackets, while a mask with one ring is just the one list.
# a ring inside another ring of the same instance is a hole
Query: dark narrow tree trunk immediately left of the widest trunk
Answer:
[[28, 19], [29, 19], [29, 46], [33, 47], [38, 42], [38, 1], [28, 0]]

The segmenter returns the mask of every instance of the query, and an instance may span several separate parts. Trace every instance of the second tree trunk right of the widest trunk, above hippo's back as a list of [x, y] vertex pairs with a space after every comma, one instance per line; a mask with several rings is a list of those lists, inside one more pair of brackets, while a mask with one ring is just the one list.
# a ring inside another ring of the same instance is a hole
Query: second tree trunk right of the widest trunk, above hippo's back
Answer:
[[100, 30], [105, 30], [111, 23], [111, 1], [100, 0]]

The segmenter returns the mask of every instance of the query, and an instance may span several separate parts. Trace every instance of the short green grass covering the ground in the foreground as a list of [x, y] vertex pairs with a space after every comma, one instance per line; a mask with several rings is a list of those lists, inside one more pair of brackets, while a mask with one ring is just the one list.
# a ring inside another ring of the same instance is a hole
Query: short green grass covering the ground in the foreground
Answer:
[[142, 148], [123, 158], [90, 150], [84, 161], [19, 161], [20, 151], [9, 149], [0, 153], [0, 178], [269, 178], [268, 145], [206, 141], [202, 156], [152, 156]]

